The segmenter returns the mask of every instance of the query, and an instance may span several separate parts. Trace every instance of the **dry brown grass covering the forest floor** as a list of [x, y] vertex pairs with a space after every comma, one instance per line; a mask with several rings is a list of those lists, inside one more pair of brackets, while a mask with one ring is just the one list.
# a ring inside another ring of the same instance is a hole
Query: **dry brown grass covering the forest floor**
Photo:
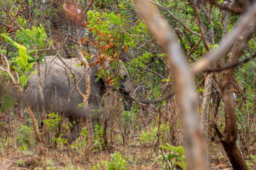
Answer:
[[[175, 105], [170, 108], [165, 107], [165, 110], [169, 109], [169, 112], [162, 112], [160, 131], [157, 130], [160, 121], [157, 112], [148, 114], [154, 117], [150, 123], [147, 123], [147, 121], [144, 122], [147, 124], [145, 126], [142, 124], [143, 121], [140, 120], [140, 114], [135, 113], [137, 115], [133, 116], [133, 121], [129, 126], [131, 127], [131, 133], [126, 145], [124, 145], [123, 136], [121, 135], [124, 133], [124, 130], [120, 122], [120, 117], [122, 117], [119, 115], [120, 110], [114, 110], [116, 115], [112, 113], [112, 118], [115, 118], [115, 121], [117, 121], [113, 123], [115, 126], [113, 148], [114, 152], [120, 152], [122, 157], [127, 161], [125, 165], [127, 169], [168, 169], [170, 162], [168, 163], [162, 156], [168, 151], [159, 148], [159, 145], [169, 143], [174, 146], [181, 145], [184, 148], [183, 130], [176, 108]], [[107, 113], [106, 111], [105, 114]], [[151, 119], [148, 118], [146, 120]], [[62, 123], [67, 123], [67, 120], [64, 120]], [[11, 118], [11, 116], [7, 116], [5, 122], [1, 124], [0, 170], [40, 169], [40, 160], [38, 160], [36, 144], [33, 143], [29, 148], [21, 149], [16, 141], [22, 124], [23, 121]], [[111, 125], [110, 119], [108, 127], [108, 148], [110, 144], [109, 130]], [[139, 128], [140, 126], [141, 128]], [[157, 133], [160, 134], [159, 143], [157, 143]], [[32, 131], [30, 139], [33, 138], [34, 134]], [[98, 169], [105, 169], [103, 162], [110, 160], [111, 151], [109, 149], [103, 149], [103, 146], [98, 147], [94, 150], [94, 157], [86, 162], [84, 161], [84, 147], [81, 145], [85, 140], [86, 138], [80, 135], [80, 137], [73, 142], [74, 145], [80, 146], [76, 148], [74, 148], [73, 145], [57, 144], [53, 146], [45, 144], [47, 169], [92, 169], [94, 166], [97, 166], [97, 164], [100, 166]], [[218, 139], [213, 142], [209, 140], [207, 153], [209, 165], [211, 165], [212, 169], [230, 169], [231, 166], [228, 157]], [[252, 162], [252, 160], [249, 161]], [[252, 167], [254, 167], [254, 164], [252, 164]]]

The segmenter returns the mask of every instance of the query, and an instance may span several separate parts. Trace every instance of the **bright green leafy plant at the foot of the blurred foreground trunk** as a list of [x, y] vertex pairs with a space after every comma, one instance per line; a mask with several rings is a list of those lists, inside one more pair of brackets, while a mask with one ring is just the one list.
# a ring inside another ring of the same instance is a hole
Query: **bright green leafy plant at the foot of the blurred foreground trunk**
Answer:
[[[181, 146], [172, 146], [168, 143], [164, 145], [160, 145], [160, 148], [168, 150], [169, 152], [165, 154], [165, 159], [168, 161], [168, 164], [171, 165], [171, 169], [186, 169], [186, 158], [185, 151]], [[179, 168], [177, 168], [177, 166]]]

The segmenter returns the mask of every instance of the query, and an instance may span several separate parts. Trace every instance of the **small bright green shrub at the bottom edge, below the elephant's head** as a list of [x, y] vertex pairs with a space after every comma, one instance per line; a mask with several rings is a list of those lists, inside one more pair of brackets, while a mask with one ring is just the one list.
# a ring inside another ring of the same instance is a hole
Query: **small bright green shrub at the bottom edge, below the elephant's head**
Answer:
[[102, 162], [107, 170], [127, 169], [125, 166], [128, 162], [122, 157], [120, 152], [115, 152], [110, 155], [110, 160]]

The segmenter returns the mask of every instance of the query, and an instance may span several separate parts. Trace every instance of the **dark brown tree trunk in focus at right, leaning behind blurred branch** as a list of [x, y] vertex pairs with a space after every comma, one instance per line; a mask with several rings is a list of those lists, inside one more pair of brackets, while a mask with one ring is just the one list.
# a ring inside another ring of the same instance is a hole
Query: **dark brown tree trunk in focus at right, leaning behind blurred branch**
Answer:
[[[245, 48], [249, 39], [252, 37], [255, 29], [256, 19], [254, 18], [244, 32], [236, 39], [227, 64], [234, 64], [238, 62], [243, 49]], [[244, 157], [236, 144], [238, 132], [236, 124], [235, 99], [233, 93], [233, 73], [234, 68], [229, 68], [221, 72], [221, 79], [217, 78], [218, 85], [223, 95], [226, 122], [223, 134], [221, 134], [218, 129], [217, 132], [233, 168], [248, 169]]]

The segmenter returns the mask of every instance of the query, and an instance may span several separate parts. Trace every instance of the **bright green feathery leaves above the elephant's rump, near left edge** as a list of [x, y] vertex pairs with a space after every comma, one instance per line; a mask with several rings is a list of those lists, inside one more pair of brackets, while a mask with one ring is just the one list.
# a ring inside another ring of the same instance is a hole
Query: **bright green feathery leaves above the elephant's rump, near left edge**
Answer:
[[[20, 28], [20, 30], [15, 33], [16, 41], [12, 40], [11, 37], [4, 33], [0, 34], [0, 37], [3, 37], [6, 42], [10, 43], [18, 50], [18, 52], [10, 53], [10, 55], [13, 56], [10, 63], [12, 63], [12, 69], [18, 75], [18, 82], [23, 87], [27, 85], [28, 79], [35, 73], [35, 71], [32, 71], [34, 62], [41, 62], [42, 60], [42, 57], [36, 58], [33, 56], [34, 53], [51, 43], [45, 44], [47, 35], [42, 26], [37, 28], [32, 27], [32, 29], [33, 30]], [[5, 51], [3, 50], [2, 52], [4, 53]], [[8, 78], [7, 75], [6, 77]]]

